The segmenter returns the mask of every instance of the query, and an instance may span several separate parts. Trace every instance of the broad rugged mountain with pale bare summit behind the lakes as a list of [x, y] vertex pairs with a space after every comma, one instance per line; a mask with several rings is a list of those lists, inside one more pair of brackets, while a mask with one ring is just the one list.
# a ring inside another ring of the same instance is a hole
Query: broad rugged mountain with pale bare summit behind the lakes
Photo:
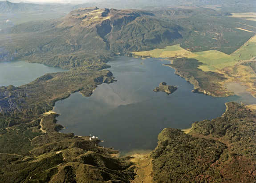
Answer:
[[79, 8], [62, 19], [19, 24], [2, 32], [11, 36], [0, 45], [0, 60], [37, 58], [37, 62], [65, 68], [74, 63], [63, 65], [59, 56], [79, 57], [75, 60], [81, 65], [81, 57], [161, 48], [180, 43], [185, 34], [176, 24], [155, 20], [151, 12], [97, 7]]

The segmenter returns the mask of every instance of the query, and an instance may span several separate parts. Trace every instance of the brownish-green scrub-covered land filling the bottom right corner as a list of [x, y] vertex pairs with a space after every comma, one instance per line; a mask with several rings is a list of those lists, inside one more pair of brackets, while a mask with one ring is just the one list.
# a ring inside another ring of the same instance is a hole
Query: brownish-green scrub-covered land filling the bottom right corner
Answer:
[[[165, 128], [151, 152], [153, 182], [255, 182], [256, 116], [227, 103], [219, 118], [195, 122], [191, 132]], [[234, 172], [236, 171], [236, 172]]]

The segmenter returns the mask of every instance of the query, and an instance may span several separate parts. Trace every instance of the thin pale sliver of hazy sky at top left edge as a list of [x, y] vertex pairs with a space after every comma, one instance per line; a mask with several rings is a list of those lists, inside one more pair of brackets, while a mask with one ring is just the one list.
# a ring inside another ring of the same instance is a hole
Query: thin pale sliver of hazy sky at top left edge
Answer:
[[[0, 0], [2, 1], [2, 0]], [[12, 3], [74, 3], [83, 4], [100, 0], [8, 0]]]

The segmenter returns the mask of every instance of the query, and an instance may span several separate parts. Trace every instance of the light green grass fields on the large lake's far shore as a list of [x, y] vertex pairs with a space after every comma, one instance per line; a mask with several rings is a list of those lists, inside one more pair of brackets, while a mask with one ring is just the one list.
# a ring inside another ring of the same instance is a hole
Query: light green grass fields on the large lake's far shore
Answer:
[[137, 56], [151, 56], [154, 58], [193, 58], [203, 63], [199, 65], [199, 68], [203, 71], [216, 71], [225, 67], [230, 67], [236, 64], [238, 61], [250, 60], [256, 56], [256, 36], [252, 37], [246, 44], [236, 50], [231, 55], [219, 52], [217, 50], [209, 50], [203, 52], [190, 52], [179, 46], [179, 44], [173, 46], [167, 46], [163, 49], [154, 49], [146, 52], [132, 52]]

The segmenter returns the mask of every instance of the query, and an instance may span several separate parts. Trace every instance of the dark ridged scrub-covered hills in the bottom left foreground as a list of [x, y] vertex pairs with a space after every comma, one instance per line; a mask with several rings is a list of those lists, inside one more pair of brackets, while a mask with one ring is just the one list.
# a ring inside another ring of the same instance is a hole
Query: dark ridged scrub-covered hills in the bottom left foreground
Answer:
[[133, 163], [111, 156], [118, 151], [98, 146], [99, 140], [89, 136], [55, 131], [61, 128], [56, 115], [10, 127], [0, 136], [0, 182], [129, 182], [133, 178]]

